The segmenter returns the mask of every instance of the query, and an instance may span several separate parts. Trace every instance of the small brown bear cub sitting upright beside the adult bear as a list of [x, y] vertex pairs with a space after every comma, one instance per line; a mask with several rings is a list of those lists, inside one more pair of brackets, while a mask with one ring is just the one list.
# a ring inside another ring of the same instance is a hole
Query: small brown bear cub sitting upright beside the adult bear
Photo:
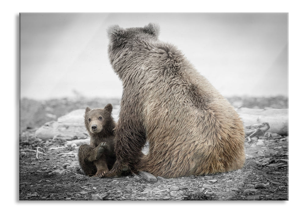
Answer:
[[103, 177], [115, 162], [112, 105], [105, 108], [86, 108], [84, 125], [90, 136], [90, 144], [79, 147], [79, 164], [86, 175]]

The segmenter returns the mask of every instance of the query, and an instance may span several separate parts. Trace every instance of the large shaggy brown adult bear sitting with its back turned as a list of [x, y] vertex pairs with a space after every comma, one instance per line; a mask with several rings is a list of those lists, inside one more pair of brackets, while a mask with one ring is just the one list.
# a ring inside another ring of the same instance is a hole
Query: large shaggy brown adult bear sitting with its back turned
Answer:
[[166, 178], [240, 169], [241, 119], [176, 46], [158, 40], [159, 27], [115, 25], [107, 32], [109, 59], [123, 84], [117, 159], [107, 176], [123, 166]]

